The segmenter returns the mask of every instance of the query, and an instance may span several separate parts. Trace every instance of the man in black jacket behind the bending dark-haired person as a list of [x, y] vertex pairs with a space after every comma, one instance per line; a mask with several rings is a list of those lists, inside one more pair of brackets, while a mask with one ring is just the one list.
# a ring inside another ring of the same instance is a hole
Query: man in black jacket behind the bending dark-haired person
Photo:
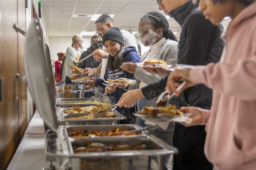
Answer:
[[[92, 36], [92, 38], [91, 38], [91, 45], [92, 45], [92, 43], [93, 43], [94, 41], [100, 41], [100, 37], [99, 37], [98, 35]], [[82, 60], [82, 59], [84, 59], [85, 57], [87, 57], [87, 56], [90, 55], [90, 54], [92, 54], [92, 53], [89, 51], [89, 48], [87, 48], [87, 50], [84, 51], [84, 52], [81, 54], [81, 57], [80, 57], [79, 61]], [[79, 64], [77, 65], [77, 67], [79, 67], [79, 68], [81, 68], [81, 69], [85, 69], [85, 68], [96, 68], [96, 67], [98, 67], [99, 65], [100, 65], [100, 62], [98, 62], [97, 60], [95, 60], [95, 59], [93, 58], [93, 56], [92, 56], [92, 57], [89, 57], [89, 58], [87, 58], [86, 60], [82, 61], [81, 63], [79, 63]]]

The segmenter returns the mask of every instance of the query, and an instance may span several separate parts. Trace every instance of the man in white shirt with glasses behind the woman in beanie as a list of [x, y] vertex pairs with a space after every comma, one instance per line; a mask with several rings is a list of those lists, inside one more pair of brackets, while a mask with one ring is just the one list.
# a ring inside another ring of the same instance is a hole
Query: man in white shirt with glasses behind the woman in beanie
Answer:
[[[98, 35], [102, 38], [104, 33], [111, 27], [116, 27], [115, 22], [113, 21], [113, 19], [107, 15], [107, 14], [103, 14], [101, 15], [96, 21], [95, 21], [95, 27], [98, 33]], [[124, 48], [133, 46], [136, 47], [137, 51], [138, 50], [138, 41], [137, 39], [134, 37], [134, 35], [132, 35], [132, 33], [126, 31], [126, 30], [120, 30], [120, 32], [123, 35], [124, 38]], [[138, 52], [139, 54], [139, 52]], [[94, 68], [94, 70], [91, 71], [91, 73], [89, 73], [89, 76], [92, 74], [100, 74], [100, 78], [104, 80], [104, 74], [105, 74], [105, 70], [106, 70], [106, 66], [107, 66], [107, 53], [101, 49], [95, 50], [93, 57], [99, 57], [102, 58], [102, 62], [100, 64], [99, 67]]]

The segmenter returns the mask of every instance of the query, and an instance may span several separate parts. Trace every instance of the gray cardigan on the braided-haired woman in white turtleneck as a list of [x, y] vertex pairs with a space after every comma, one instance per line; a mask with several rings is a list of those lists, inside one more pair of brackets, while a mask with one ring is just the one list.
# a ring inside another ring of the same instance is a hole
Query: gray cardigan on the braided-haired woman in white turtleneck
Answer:
[[[149, 52], [150, 52], [150, 49], [143, 54], [140, 62], [148, 60], [147, 55]], [[167, 39], [161, 45], [154, 59], [163, 60], [167, 64], [177, 64], [177, 52], [178, 52], [178, 42]], [[141, 67], [136, 68], [134, 72], [134, 77], [136, 78], [136, 84], [131, 85], [128, 88], [128, 90], [139, 89], [141, 81], [143, 83], [150, 84], [162, 78], [159, 75], [144, 71]], [[156, 107], [156, 98], [152, 100], [148, 100], [148, 106]], [[170, 141], [172, 140], [173, 129], [174, 129], [174, 123], [172, 122], [169, 124], [169, 127], [166, 130], [163, 130], [161, 128], [156, 128], [156, 129], [149, 130], [149, 132], [157, 137], [160, 137], [165, 141]]]

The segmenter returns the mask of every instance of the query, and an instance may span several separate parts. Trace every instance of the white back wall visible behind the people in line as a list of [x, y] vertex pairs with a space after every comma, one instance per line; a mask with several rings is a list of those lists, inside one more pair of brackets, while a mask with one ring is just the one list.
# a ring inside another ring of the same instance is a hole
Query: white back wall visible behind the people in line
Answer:
[[[91, 45], [91, 37], [83, 37], [84, 38], [84, 51], [90, 47]], [[140, 37], [136, 37], [138, 40], [138, 43], [141, 46], [141, 54], [143, 54], [145, 51], [149, 49], [149, 47], [144, 47], [143, 44], [140, 41]], [[66, 53], [66, 50], [69, 46], [71, 46], [72, 43], [72, 37], [49, 37], [49, 48], [50, 48], [50, 54], [51, 59], [56, 61], [58, 60], [57, 53], [63, 52]]]

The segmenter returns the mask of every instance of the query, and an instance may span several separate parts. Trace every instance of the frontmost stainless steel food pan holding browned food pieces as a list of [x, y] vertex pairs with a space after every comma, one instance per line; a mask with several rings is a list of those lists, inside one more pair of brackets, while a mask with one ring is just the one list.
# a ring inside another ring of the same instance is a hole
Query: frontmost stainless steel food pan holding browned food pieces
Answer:
[[[73, 152], [73, 147], [88, 146], [91, 143], [99, 142], [103, 144], [146, 144], [147, 150], [129, 151], [107, 151], [107, 152]], [[177, 149], [166, 144], [161, 139], [152, 135], [136, 138], [69, 138], [69, 152], [72, 155], [71, 165], [75, 170], [92, 169], [115, 169], [115, 170], [161, 170], [164, 169], [164, 159], [166, 155], [177, 153]], [[152, 159], [156, 160], [157, 167], [151, 167]]]

